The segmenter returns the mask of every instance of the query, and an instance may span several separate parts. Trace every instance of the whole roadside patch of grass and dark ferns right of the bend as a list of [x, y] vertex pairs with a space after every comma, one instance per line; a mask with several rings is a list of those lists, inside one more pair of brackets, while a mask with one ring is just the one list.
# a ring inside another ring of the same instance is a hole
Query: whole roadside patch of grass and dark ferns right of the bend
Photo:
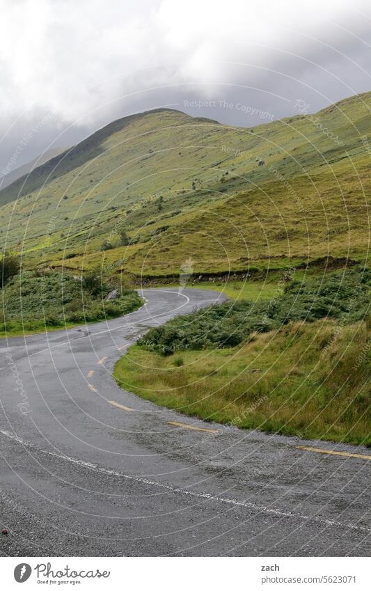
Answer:
[[189, 416], [371, 446], [370, 271], [299, 273], [272, 299], [265, 285], [150, 329], [116, 381]]

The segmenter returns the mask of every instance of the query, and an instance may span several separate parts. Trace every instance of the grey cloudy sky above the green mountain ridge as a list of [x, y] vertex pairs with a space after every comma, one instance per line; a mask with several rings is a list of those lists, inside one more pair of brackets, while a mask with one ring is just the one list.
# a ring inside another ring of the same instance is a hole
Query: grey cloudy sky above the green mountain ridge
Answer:
[[0, 0], [0, 175], [157, 107], [252, 127], [371, 90], [369, 0]]

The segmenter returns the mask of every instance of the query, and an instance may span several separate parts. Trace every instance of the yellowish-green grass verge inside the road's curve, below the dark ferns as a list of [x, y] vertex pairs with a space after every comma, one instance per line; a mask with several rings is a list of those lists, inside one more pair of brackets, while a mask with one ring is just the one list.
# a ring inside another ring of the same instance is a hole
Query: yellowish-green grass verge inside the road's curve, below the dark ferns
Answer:
[[371, 446], [370, 326], [290, 323], [229, 349], [134, 345], [114, 377], [146, 400], [243, 429]]

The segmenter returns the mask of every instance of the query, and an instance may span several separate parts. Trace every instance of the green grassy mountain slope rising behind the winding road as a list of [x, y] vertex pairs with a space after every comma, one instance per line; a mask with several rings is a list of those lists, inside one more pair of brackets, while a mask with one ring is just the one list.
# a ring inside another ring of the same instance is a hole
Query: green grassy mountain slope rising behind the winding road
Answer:
[[125, 117], [1, 191], [0, 234], [26, 265], [74, 272], [365, 260], [370, 107], [365, 93], [247, 129], [171, 109]]

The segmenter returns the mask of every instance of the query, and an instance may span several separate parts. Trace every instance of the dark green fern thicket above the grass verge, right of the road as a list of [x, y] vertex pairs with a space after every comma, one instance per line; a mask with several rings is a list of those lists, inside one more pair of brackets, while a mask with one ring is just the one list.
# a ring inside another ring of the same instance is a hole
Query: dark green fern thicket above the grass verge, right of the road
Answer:
[[333, 318], [343, 324], [364, 320], [370, 306], [371, 271], [346, 269], [289, 281], [281, 296], [269, 301], [228, 301], [177, 316], [145, 334], [139, 345], [169, 355], [187, 349], [235, 347], [253, 333], [278, 330], [289, 322]]

